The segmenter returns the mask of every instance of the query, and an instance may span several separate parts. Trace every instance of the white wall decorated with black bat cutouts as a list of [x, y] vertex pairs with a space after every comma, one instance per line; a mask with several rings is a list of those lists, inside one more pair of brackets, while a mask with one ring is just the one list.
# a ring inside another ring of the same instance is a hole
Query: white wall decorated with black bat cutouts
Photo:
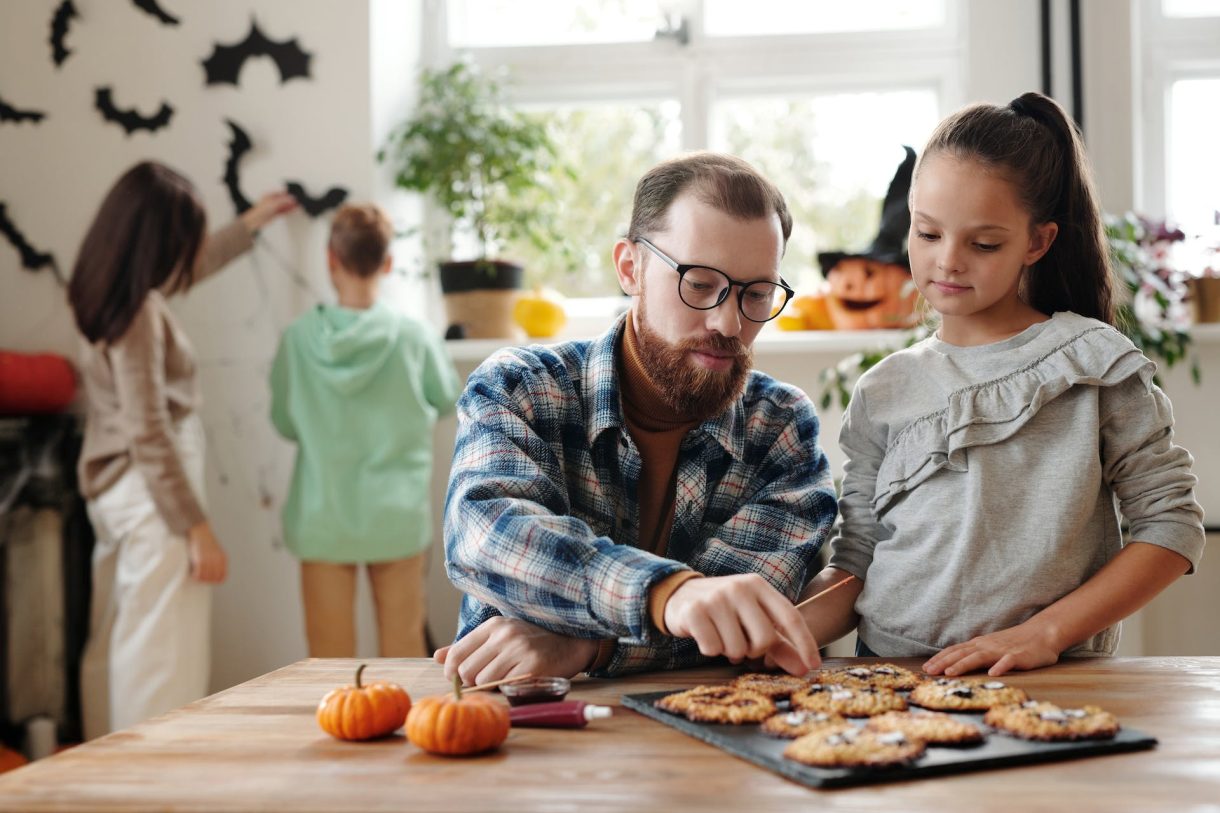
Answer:
[[[182, 18], [166, 27], [131, 2], [74, 2], [81, 17], [66, 39], [72, 54], [59, 68], [48, 45], [57, 0], [0, 2], [0, 96], [48, 114], [39, 125], [0, 125], [0, 200], [65, 273], [110, 184], [143, 159], [182, 171], [199, 187], [211, 221], [229, 220], [234, 212], [221, 183], [229, 139], [224, 118], [254, 142], [240, 165], [249, 198], [287, 179], [315, 193], [344, 186], [353, 199], [392, 198], [373, 150], [412, 101], [417, 4], [166, 2]], [[205, 85], [201, 60], [214, 43], [243, 39], [251, 16], [268, 37], [295, 37], [314, 55], [311, 78], [281, 83], [273, 62], [260, 57], [245, 63], [238, 87]], [[386, 68], [376, 77], [375, 51]], [[100, 85], [113, 87], [118, 105], [145, 114], [167, 100], [176, 109], [170, 127], [127, 136], [104, 122], [93, 106]], [[322, 262], [326, 229], [325, 217], [300, 214], [273, 223], [264, 245], [174, 303], [199, 356], [207, 499], [231, 557], [232, 575], [216, 591], [214, 614], [217, 688], [305, 656], [296, 564], [279, 542], [292, 449], [267, 420], [266, 376], [279, 331], [320, 297], [331, 297]], [[400, 292], [400, 298], [411, 297]], [[73, 359], [77, 352], [63, 291], [49, 273], [22, 270], [2, 242], [0, 347]], [[367, 623], [361, 646], [366, 653], [372, 648]]]

